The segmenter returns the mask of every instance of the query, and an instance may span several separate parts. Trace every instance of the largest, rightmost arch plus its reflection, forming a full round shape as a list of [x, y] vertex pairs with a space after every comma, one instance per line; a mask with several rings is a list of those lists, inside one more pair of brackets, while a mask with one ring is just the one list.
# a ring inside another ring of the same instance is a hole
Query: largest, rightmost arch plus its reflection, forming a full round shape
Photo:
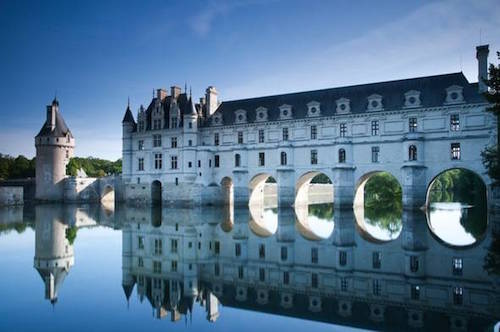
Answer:
[[453, 168], [427, 188], [427, 223], [445, 244], [468, 246], [483, 238], [487, 224], [487, 189], [476, 173]]

